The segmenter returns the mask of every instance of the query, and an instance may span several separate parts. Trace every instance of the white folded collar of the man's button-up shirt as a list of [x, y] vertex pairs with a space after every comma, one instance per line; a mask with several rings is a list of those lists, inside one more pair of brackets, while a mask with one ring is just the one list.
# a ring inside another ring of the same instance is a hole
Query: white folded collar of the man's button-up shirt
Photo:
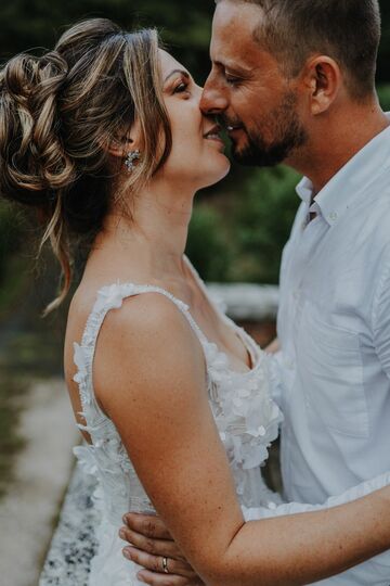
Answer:
[[[386, 115], [390, 122], [390, 113]], [[314, 201], [324, 219], [330, 226], [336, 224], [352, 201], [356, 201], [356, 195], [364, 193], [367, 186], [389, 167], [390, 126], [363, 146], [315, 195]], [[303, 177], [296, 191], [310, 206], [313, 195], [310, 179]]]

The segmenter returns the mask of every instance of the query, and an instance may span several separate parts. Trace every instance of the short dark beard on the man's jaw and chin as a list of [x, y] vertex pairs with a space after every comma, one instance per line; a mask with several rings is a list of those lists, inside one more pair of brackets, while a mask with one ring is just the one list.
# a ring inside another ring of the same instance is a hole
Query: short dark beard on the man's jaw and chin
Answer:
[[[274, 109], [252, 130], [243, 128], [247, 136], [247, 144], [239, 150], [233, 140], [233, 157], [246, 166], [274, 167], [286, 161], [289, 155], [307, 140], [307, 132], [295, 110], [296, 97], [292, 92], [285, 94], [281, 105]], [[261, 129], [274, 137], [265, 142]]]

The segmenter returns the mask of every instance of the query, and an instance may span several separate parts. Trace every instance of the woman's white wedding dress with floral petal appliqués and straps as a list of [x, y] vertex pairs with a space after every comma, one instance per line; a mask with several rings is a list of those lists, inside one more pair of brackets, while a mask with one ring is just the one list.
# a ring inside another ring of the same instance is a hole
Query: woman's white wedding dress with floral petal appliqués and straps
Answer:
[[[194, 270], [192, 268], [192, 270]], [[194, 276], [207, 294], [194, 270]], [[236, 482], [239, 502], [245, 507], [276, 508], [281, 497], [272, 493], [261, 477], [260, 464], [268, 458], [268, 448], [277, 437], [282, 415], [269, 393], [266, 355], [255, 341], [231, 321], [218, 307], [222, 319], [242, 337], [251, 356], [252, 369], [245, 373], [231, 370], [227, 357], [209, 342], [193, 319], [188, 306], [169, 292], [151, 285], [116, 283], [104, 286], [89, 316], [81, 344], [75, 343], [82, 415], [92, 445], [75, 448], [84, 471], [98, 479], [94, 495], [100, 509], [98, 553], [92, 559], [90, 586], [141, 585], [140, 568], [122, 557], [123, 542], [118, 537], [122, 514], [127, 511], [155, 512], [121, 443], [114, 423], [102, 412], [92, 385], [92, 362], [100, 328], [106, 314], [121, 306], [125, 298], [148, 292], [165, 295], [178, 307], [203, 346], [208, 375], [208, 396], [221, 441], [225, 447]], [[183, 504], [185, 506], [185, 504]]]

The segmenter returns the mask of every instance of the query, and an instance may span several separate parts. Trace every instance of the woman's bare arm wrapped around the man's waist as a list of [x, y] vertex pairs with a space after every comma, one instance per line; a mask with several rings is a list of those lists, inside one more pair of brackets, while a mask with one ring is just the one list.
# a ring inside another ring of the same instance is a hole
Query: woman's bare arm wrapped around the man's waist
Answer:
[[164, 297], [135, 297], [108, 315], [94, 381], [156, 510], [206, 584], [308, 584], [390, 547], [388, 489], [326, 511], [244, 522], [202, 348]]

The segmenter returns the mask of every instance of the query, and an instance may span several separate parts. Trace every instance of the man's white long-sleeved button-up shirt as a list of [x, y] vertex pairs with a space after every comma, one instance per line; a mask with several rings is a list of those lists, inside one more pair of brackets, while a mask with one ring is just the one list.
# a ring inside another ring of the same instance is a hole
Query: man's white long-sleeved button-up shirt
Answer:
[[[390, 481], [390, 127], [313, 202], [307, 178], [297, 192], [277, 318], [283, 481], [287, 500], [333, 506]], [[321, 582], [389, 584], [390, 552]]]

